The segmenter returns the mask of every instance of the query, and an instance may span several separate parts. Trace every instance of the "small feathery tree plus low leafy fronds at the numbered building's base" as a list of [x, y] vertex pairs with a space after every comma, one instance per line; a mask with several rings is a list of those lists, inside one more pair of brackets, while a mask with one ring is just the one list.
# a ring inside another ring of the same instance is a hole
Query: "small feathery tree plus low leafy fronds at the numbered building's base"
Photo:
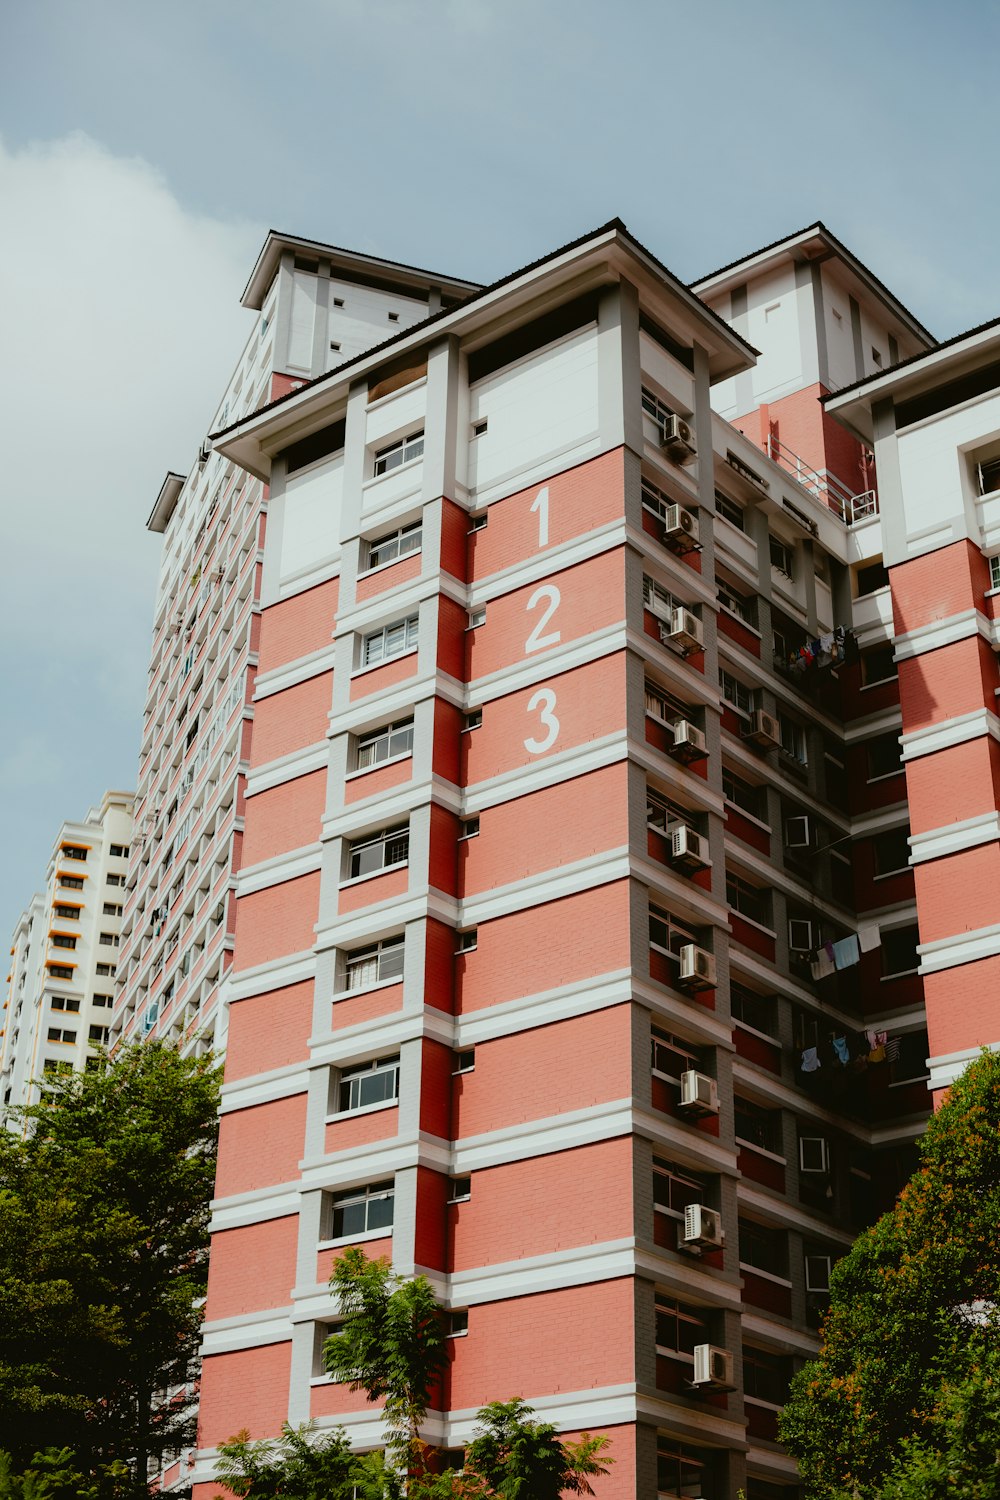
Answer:
[[[394, 1275], [388, 1260], [369, 1260], [351, 1246], [337, 1260], [330, 1284], [340, 1304], [340, 1332], [324, 1346], [327, 1370], [369, 1401], [384, 1402], [388, 1461], [382, 1454], [355, 1458], [351, 1472], [343, 1432], [312, 1444], [307, 1428], [285, 1428], [280, 1443], [249, 1443], [246, 1434], [220, 1449], [217, 1468], [240, 1500], [559, 1500], [564, 1492], [592, 1494], [589, 1478], [613, 1462], [609, 1440], [583, 1434], [561, 1443], [556, 1430], [532, 1420], [522, 1400], [495, 1401], [478, 1413], [478, 1430], [460, 1470], [420, 1437], [421, 1424], [447, 1365], [447, 1326], [426, 1276]], [[327, 1473], [321, 1491], [315, 1473]], [[340, 1466], [340, 1467], [339, 1467]], [[339, 1488], [337, 1488], [339, 1486]], [[1, 1500], [1, 1497], [0, 1497]]]

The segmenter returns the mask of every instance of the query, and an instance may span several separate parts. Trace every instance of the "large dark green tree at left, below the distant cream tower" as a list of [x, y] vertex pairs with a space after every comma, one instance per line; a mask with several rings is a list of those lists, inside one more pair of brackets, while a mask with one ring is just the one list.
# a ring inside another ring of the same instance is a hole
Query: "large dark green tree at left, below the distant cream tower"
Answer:
[[[219, 1076], [163, 1044], [45, 1080], [0, 1131], [0, 1412], [15, 1464], [51, 1444], [81, 1470], [193, 1440]], [[171, 1396], [174, 1400], [171, 1400]]]

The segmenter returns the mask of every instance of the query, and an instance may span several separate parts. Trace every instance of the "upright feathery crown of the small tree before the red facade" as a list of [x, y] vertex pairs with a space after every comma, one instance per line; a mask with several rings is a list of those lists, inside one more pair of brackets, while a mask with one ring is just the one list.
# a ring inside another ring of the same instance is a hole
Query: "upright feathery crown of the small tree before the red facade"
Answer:
[[447, 1364], [447, 1329], [426, 1276], [393, 1274], [388, 1260], [369, 1260], [352, 1245], [337, 1260], [330, 1284], [343, 1318], [324, 1346], [330, 1374], [369, 1401], [384, 1401], [390, 1446], [409, 1467], [420, 1424]]

